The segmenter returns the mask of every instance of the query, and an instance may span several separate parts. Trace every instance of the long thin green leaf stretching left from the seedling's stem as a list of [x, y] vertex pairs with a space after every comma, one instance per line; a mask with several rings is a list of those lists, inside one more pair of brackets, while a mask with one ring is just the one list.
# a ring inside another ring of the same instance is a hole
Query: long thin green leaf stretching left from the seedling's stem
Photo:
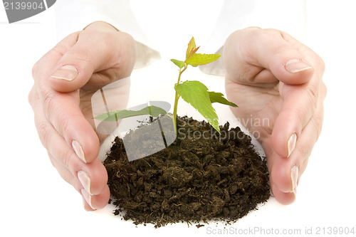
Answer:
[[103, 121], [117, 121], [126, 117], [135, 117], [139, 115], [151, 115], [158, 117], [158, 115], [165, 115], [167, 112], [160, 107], [151, 105], [144, 107], [142, 110], [116, 110], [112, 112], [105, 112], [103, 115], [94, 117], [95, 120]]

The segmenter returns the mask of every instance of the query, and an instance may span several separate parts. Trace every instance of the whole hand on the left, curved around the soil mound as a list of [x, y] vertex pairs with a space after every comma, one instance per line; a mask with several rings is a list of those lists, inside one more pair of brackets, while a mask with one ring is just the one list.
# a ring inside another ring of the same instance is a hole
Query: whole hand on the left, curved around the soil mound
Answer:
[[130, 76], [135, 56], [131, 36], [95, 22], [64, 38], [33, 66], [28, 100], [38, 135], [88, 211], [102, 209], [110, 196], [108, 174], [97, 158], [103, 137], [95, 133], [90, 98], [104, 85]]

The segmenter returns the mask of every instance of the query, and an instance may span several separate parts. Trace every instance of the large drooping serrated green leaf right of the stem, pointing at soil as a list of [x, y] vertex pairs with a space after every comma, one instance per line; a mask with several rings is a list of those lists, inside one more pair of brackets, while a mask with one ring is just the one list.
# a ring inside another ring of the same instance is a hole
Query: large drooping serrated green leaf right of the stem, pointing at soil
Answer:
[[174, 89], [183, 100], [197, 109], [216, 131], [220, 132], [218, 115], [211, 105], [208, 88], [203, 83], [197, 80], [187, 80], [176, 84]]

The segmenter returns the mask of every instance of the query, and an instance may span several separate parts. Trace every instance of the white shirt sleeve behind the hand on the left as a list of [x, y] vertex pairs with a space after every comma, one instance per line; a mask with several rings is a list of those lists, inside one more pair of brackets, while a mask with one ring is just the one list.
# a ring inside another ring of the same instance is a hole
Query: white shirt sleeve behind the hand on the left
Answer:
[[83, 30], [94, 21], [105, 21], [135, 38], [135, 68], [142, 68], [160, 58], [159, 52], [138, 25], [129, 0], [60, 0], [55, 5], [55, 12], [58, 40]]

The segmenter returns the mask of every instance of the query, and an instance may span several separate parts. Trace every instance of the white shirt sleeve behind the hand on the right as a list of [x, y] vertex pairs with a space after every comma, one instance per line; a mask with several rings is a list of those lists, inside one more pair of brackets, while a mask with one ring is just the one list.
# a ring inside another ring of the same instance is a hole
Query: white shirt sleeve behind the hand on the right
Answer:
[[[225, 0], [212, 36], [201, 48], [204, 52], [221, 53], [231, 33], [249, 26], [276, 28], [303, 41], [306, 33], [305, 0]], [[199, 68], [207, 74], [225, 74], [222, 58]]]

